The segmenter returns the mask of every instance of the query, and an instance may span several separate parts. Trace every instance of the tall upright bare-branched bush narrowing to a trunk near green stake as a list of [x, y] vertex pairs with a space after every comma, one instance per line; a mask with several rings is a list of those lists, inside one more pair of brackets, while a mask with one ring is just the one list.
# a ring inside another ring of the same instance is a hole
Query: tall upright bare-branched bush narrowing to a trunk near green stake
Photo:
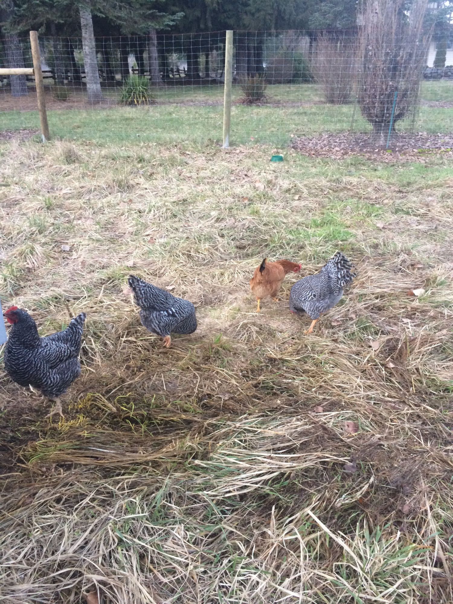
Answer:
[[423, 33], [428, 0], [368, 0], [360, 32], [358, 101], [382, 146], [394, 124], [414, 109], [426, 65], [430, 34]]

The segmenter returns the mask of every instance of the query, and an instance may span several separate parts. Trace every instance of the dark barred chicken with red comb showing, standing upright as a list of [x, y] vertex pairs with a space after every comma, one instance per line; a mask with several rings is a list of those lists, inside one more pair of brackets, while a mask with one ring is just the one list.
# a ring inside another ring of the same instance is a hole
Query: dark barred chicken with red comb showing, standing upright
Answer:
[[86, 315], [72, 319], [62, 332], [40, 338], [33, 318], [11, 306], [4, 313], [13, 327], [5, 346], [5, 369], [19, 386], [31, 386], [50, 400], [55, 408], [47, 417], [63, 417], [60, 396], [80, 376], [80, 346]]

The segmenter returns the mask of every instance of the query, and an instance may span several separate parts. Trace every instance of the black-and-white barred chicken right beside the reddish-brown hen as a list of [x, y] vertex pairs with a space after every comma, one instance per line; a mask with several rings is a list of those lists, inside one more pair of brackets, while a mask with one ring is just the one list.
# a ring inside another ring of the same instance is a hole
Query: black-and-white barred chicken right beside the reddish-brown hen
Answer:
[[289, 294], [289, 310], [303, 313], [312, 319], [305, 333], [312, 333], [316, 321], [326, 310], [335, 306], [343, 295], [345, 285], [352, 283], [355, 272], [352, 263], [341, 252], [336, 252], [320, 272], [297, 281]]

